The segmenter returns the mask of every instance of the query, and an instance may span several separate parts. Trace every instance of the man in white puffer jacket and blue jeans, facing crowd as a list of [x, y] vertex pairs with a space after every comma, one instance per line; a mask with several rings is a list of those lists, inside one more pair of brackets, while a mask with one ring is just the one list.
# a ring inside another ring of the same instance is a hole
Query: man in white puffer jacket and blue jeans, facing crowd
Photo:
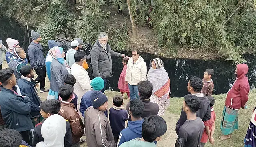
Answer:
[[138, 83], [146, 80], [147, 64], [138, 50], [132, 50], [132, 58], [128, 60], [125, 82], [128, 83], [131, 99], [139, 99]]

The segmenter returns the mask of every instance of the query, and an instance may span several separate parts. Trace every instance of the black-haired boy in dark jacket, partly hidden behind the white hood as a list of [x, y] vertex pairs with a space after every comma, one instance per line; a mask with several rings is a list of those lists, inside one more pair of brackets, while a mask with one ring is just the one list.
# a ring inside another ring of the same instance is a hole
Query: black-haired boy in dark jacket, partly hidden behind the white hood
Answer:
[[[60, 111], [60, 101], [56, 99], [45, 100], [40, 104], [40, 113], [44, 120], [41, 123], [38, 123], [33, 132], [33, 141], [32, 147], [35, 147], [37, 143], [44, 141], [44, 137], [41, 134], [41, 128], [44, 121], [50, 117], [51, 115], [58, 114]], [[72, 135], [70, 124], [66, 120], [66, 134], [64, 137], [64, 147], [71, 147], [72, 146]]]

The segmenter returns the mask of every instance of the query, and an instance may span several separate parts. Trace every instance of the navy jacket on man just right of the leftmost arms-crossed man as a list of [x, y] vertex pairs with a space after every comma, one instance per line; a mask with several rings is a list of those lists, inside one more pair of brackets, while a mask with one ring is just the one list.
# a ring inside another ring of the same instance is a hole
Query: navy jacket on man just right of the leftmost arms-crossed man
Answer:
[[31, 104], [31, 118], [39, 117], [40, 116], [40, 104], [41, 100], [39, 96], [36, 93], [36, 90], [34, 88], [34, 85], [36, 85], [36, 82], [34, 80], [27, 81], [26, 79], [20, 79], [17, 83], [19, 85], [20, 91], [28, 94], [30, 98], [30, 104]]

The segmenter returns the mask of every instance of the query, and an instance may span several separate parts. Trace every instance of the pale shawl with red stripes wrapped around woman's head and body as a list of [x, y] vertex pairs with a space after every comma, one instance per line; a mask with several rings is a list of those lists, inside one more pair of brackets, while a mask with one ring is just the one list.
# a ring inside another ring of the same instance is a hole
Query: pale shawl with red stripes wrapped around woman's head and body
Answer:
[[[154, 61], [154, 60], [152, 60], [152, 61]], [[160, 60], [160, 61], [162, 62], [162, 60]], [[164, 98], [164, 99], [166, 99], [166, 98], [169, 99], [169, 93], [171, 93], [170, 79], [169, 79], [168, 73], [166, 72], [166, 70], [163, 67], [164, 64], [162, 63], [162, 64], [158, 64], [158, 65], [156, 63], [156, 67], [160, 67], [160, 68], [153, 69], [151, 67], [149, 69], [147, 79], [153, 85], [152, 93], [154, 93], [154, 95], [156, 95], [157, 97]]]

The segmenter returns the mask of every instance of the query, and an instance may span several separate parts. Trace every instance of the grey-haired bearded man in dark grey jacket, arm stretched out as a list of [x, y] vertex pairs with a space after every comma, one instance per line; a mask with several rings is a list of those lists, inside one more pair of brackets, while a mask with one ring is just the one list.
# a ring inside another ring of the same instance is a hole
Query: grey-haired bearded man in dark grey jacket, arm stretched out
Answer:
[[108, 44], [108, 35], [105, 32], [100, 32], [98, 40], [91, 50], [91, 61], [92, 76], [101, 77], [104, 80], [103, 93], [105, 92], [106, 82], [108, 81], [107, 78], [113, 76], [111, 56], [124, 57], [125, 55], [112, 51]]

